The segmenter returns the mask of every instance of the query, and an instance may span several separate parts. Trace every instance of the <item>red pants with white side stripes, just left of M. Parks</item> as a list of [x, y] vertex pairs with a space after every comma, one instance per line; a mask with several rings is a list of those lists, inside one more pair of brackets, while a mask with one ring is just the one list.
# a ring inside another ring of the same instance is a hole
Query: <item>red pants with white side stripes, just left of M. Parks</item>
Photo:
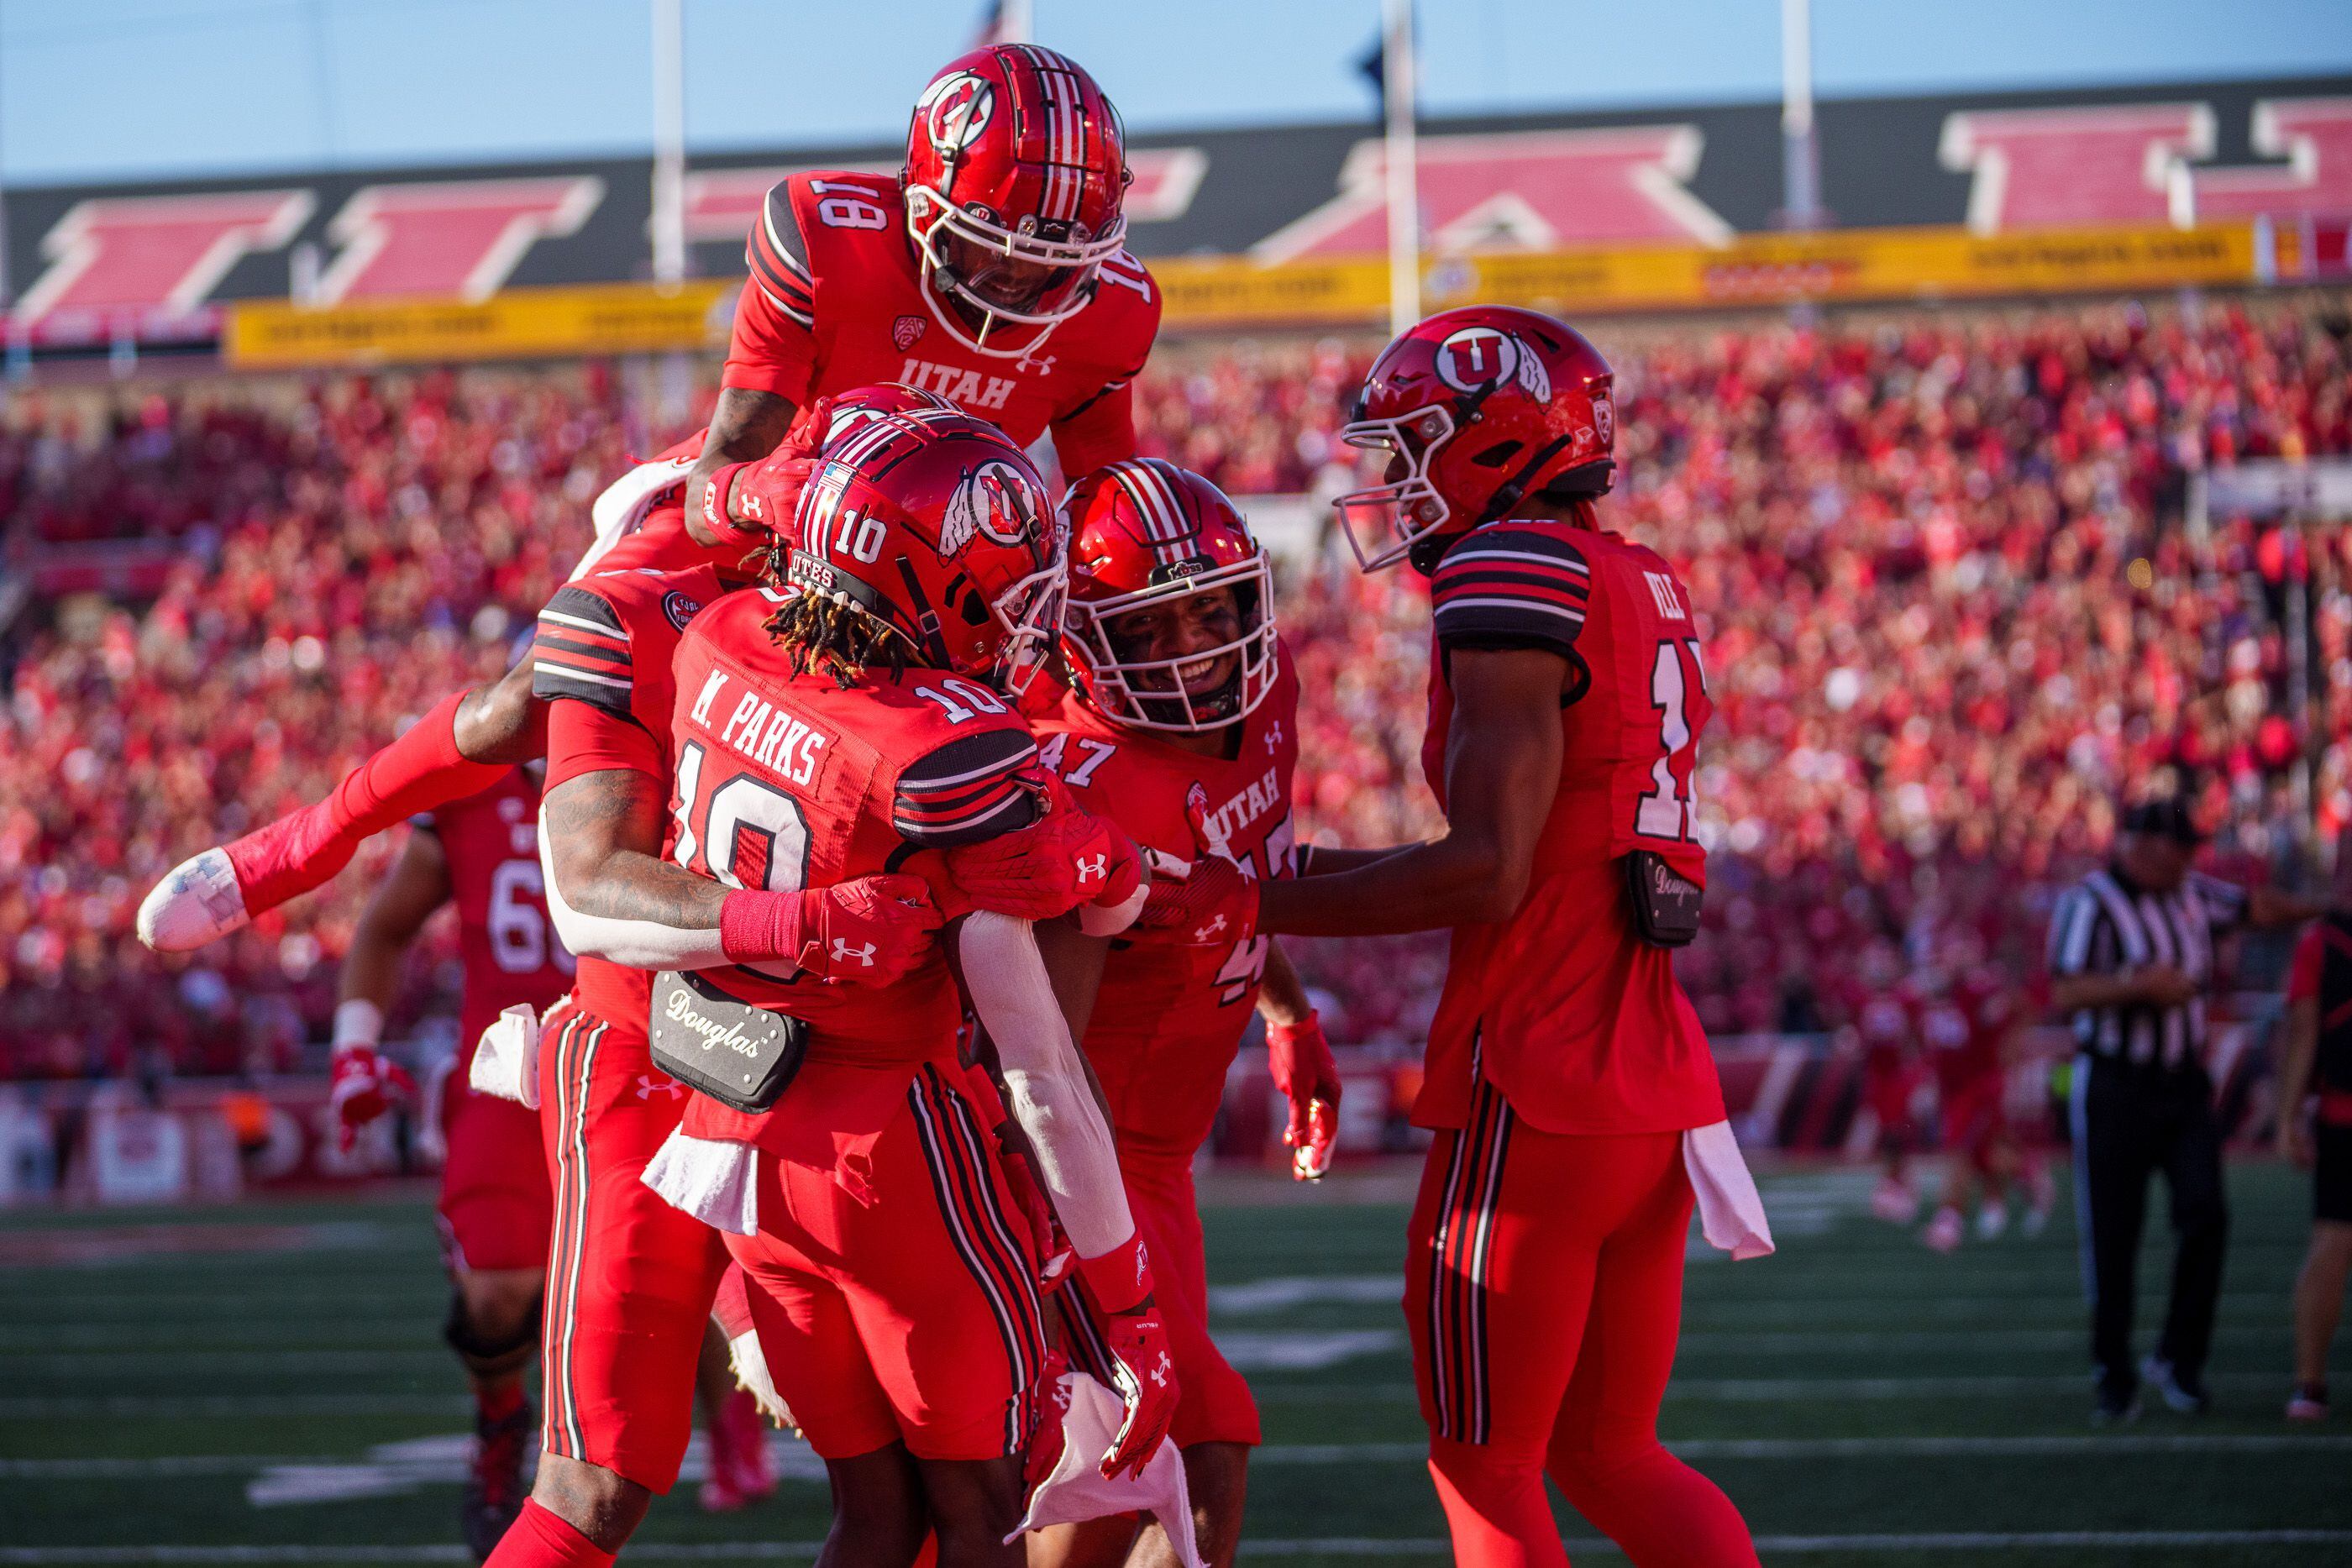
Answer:
[[677, 1483], [694, 1432], [694, 1366], [727, 1269], [720, 1232], [640, 1178], [684, 1114], [652, 1065], [644, 1025], [564, 1001], [539, 1051], [539, 1107], [555, 1185], [548, 1312], [539, 1338], [548, 1453], [656, 1493]]

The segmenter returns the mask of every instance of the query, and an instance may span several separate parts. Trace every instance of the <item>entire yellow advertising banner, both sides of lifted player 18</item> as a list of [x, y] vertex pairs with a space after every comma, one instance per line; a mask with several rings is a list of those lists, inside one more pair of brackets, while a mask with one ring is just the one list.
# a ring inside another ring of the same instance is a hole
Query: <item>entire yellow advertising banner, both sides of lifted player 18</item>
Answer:
[[[1336, 256], [1261, 266], [1247, 256], [1152, 261], [1174, 329], [1364, 327], [1388, 315], [1388, 263]], [[1858, 228], [1738, 235], [1722, 247], [1649, 244], [1432, 259], [1421, 299], [1534, 306], [1562, 315], [1799, 301], [1933, 301], [2096, 294], [2258, 282], [2251, 223], [2204, 228]], [[529, 360], [724, 348], [741, 284], [510, 289], [480, 303], [372, 301], [230, 308], [223, 355], [238, 369]]]

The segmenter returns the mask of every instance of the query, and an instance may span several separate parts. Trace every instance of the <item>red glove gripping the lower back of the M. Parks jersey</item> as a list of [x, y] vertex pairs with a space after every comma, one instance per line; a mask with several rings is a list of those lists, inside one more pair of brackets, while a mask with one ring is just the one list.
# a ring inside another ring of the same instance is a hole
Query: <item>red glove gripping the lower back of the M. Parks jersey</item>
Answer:
[[891, 985], [931, 957], [938, 926], [922, 877], [884, 872], [795, 893], [729, 893], [720, 950], [736, 964], [783, 959], [830, 985]]

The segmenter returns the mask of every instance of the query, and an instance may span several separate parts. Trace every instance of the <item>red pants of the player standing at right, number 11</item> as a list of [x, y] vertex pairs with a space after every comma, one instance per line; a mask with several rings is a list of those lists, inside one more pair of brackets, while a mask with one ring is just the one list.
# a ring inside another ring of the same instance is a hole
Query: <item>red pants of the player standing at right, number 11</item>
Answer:
[[1658, 1443], [1682, 1326], [1682, 1133], [1543, 1133], [1486, 1084], [1421, 1173], [1404, 1319], [1430, 1474], [1468, 1568], [1564, 1568], [1543, 1476], [1639, 1568], [1757, 1561]]

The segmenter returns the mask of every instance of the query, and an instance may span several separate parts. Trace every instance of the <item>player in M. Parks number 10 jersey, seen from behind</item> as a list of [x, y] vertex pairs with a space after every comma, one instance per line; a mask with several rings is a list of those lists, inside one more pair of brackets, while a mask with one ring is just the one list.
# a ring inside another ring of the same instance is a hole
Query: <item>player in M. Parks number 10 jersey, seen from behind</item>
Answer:
[[957, 978], [1124, 1394], [1101, 1467], [1141, 1469], [1176, 1401], [1167, 1331], [1030, 933], [1070, 910], [1124, 926], [1141, 867], [1037, 769], [1014, 710], [1061, 632], [1063, 538], [1011, 442], [960, 414], [858, 423], [788, 534], [774, 588], [687, 628], [670, 853], [713, 893], [922, 872], [957, 969], [927, 957], [884, 992], [663, 976], [656, 1032], [781, 1032], [795, 1065], [767, 1093], [696, 1093], [649, 1180], [727, 1229], [750, 1276], [776, 1392], [835, 1483], [826, 1561], [906, 1563], [931, 1528], [948, 1568], [1018, 1563], [1004, 1537], [1049, 1394], [1042, 1258], [997, 1150], [1004, 1110], [957, 1056]]

